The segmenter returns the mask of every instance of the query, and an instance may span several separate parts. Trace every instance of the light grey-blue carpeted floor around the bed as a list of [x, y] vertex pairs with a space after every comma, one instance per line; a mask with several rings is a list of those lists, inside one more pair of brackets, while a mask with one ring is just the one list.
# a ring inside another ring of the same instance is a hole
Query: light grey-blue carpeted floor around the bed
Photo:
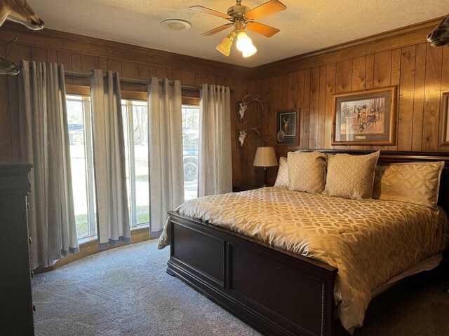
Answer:
[[[166, 274], [168, 253], [145, 241], [35, 276], [36, 335], [260, 335]], [[442, 286], [429, 276], [407, 281], [391, 302], [375, 302], [382, 313], [370, 314], [356, 334], [449, 335]]]

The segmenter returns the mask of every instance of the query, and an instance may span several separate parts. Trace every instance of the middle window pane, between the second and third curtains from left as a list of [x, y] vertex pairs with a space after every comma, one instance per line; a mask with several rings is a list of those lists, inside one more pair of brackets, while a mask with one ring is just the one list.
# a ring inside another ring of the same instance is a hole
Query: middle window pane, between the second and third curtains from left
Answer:
[[130, 226], [149, 223], [147, 102], [122, 100]]

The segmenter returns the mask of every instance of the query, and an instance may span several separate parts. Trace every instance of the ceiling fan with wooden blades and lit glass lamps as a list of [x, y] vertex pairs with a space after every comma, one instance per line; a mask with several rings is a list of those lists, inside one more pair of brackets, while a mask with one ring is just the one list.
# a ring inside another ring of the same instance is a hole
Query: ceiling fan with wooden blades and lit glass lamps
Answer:
[[216, 48], [223, 55], [229, 56], [234, 38], [237, 37], [236, 47], [238, 50], [243, 52], [243, 57], [249, 57], [257, 52], [257, 49], [253, 45], [253, 41], [251, 41], [251, 39], [248, 37], [245, 29], [255, 31], [256, 33], [266, 37], [272, 37], [274, 34], [279, 32], [279, 29], [267, 25], [262, 25], [262, 23], [254, 22], [253, 20], [280, 12], [281, 10], [284, 10], [286, 8], [287, 7], [279, 0], [269, 0], [266, 3], [262, 3], [262, 5], [257, 6], [253, 9], [250, 9], [247, 6], [243, 6], [241, 4], [241, 0], [236, 0], [236, 5], [229, 7], [227, 9], [227, 14], [220, 13], [217, 12], [217, 10], [213, 10], [203, 6], [190, 7], [190, 9], [193, 10], [197, 10], [202, 13], [208, 13], [229, 20], [230, 23], [206, 31], [206, 33], [203, 33], [201, 35], [211, 36], [227, 28], [234, 27], [232, 33], [227, 35], [223, 39], [223, 41], [217, 45]]

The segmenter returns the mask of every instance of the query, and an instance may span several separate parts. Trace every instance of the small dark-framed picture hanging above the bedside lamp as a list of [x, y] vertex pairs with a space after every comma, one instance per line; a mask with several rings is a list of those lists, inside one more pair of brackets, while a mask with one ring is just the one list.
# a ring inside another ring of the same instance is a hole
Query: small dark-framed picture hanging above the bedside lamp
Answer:
[[298, 139], [298, 109], [276, 111], [276, 145], [297, 146]]

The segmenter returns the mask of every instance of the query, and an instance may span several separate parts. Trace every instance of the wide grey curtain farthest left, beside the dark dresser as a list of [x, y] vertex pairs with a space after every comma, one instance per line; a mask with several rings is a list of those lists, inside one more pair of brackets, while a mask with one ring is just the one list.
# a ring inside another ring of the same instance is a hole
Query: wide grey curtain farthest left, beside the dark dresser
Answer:
[[22, 161], [33, 165], [28, 227], [34, 269], [79, 251], [63, 66], [22, 61], [19, 102]]

